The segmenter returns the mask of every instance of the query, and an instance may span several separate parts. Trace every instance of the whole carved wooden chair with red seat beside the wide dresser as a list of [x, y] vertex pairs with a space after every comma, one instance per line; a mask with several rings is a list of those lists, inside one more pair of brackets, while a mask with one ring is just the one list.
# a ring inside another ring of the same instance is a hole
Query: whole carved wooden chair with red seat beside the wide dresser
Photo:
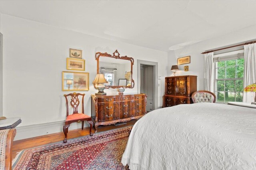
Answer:
[[[77, 122], [80, 123], [82, 121], [82, 130], [84, 129], [84, 121], [87, 121], [90, 124], [90, 136], [92, 136], [92, 117], [84, 114], [84, 96], [85, 94], [80, 93], [70, 93], [70, 94], [64, 94], [66, 98], [66, 107], [67, 107], [67, 118], [65, 121], [65, 125], [63, 126], [63, 132], [65, 135], [65, 139], [63, 140], [63, 143], [67, 142], [67, 133], [68, 133], [68, 127], [70, 126], [70, 123]], [[68, 96], [71, 96], [70, 105], [73, 107], [73, 114], [69, 115], [68, 113]], [[82, 96], [82, 113], [78, 113], [78, 106], [80, 104], [79, 96]]]

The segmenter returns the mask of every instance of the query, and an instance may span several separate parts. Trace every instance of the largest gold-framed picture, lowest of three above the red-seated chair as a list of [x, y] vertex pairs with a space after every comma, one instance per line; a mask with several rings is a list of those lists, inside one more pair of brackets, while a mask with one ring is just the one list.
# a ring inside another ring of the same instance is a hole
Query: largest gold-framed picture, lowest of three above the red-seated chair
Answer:
[[62, 91], [88, 91], [88, 72], [62, 71]]

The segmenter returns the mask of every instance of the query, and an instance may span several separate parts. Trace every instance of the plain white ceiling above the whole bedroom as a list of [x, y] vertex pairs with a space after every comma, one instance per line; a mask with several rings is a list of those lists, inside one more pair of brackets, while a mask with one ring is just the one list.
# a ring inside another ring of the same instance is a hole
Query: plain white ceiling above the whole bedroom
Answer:
[[256, 25], [255, 9], [256, 0], [0, 0], [2, 14], [161, 51]]

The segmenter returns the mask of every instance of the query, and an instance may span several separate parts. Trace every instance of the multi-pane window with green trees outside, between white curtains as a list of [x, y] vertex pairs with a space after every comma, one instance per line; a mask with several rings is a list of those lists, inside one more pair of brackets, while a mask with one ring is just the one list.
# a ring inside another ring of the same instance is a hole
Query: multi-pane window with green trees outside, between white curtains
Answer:
[[242, 102], [244, 53], [215, 57], [214, 63], [216, 102]]

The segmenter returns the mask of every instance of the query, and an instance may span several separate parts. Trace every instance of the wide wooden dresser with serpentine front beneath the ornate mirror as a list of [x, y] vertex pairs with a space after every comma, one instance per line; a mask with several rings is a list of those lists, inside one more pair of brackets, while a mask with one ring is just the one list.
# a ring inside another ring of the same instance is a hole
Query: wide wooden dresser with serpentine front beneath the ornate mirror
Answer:
[[107, 94], [106, 96], [92, 96], [92, 121], [95, 133], [99, 125], [112, 125], [139, 119], [146, 112], [146, 94]]

